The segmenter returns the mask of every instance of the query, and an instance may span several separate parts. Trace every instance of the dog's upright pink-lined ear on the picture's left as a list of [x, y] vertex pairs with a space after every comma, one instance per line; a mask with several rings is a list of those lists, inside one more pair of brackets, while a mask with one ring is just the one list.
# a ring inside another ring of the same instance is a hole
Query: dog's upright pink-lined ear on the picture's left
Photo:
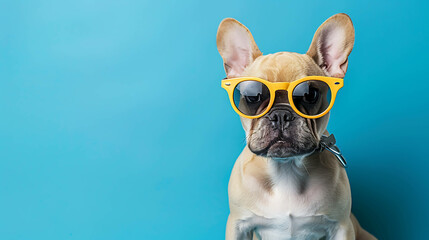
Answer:
[[253, 60], [262, 55], [249, 29], [233, 18], [220, 23], [216, 43], [228, 78], [240, 76]]

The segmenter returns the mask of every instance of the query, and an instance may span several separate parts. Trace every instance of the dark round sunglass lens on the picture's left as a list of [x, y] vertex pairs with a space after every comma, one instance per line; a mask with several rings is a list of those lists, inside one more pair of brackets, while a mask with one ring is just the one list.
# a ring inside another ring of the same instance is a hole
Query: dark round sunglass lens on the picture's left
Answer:
[[234, 104], [245, 115], [256, 116], [264, 112], [270, 102], [270, 91], [265, 84], [244, 81], [234, 89]]

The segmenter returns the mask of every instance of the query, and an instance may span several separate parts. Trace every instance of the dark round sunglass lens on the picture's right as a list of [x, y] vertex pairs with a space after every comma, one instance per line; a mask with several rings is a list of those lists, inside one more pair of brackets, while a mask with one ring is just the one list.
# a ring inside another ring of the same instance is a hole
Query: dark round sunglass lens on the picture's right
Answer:
[[295, 107], [306, 115], [315, 116], [323, 113], [331, 103], [331, 89], [325, 82], [318, 80], [298, 84], [292, 92]]

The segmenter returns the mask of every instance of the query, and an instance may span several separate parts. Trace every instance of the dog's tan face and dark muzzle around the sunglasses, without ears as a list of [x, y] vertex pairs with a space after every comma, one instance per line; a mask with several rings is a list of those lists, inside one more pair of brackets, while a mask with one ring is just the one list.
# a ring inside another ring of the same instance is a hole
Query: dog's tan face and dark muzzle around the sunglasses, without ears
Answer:
[[[244, 72], [271, 82], [292, 82], [325, 73], [308, 55], [277, 53], [258, 57]], [[329, 119], [306, 119], [291, 108], [286, 91], [278, 91], [271, 110], [261, 118], [241, 118], [249, 149], [262, 156], [281, 159], [312, 153]]]

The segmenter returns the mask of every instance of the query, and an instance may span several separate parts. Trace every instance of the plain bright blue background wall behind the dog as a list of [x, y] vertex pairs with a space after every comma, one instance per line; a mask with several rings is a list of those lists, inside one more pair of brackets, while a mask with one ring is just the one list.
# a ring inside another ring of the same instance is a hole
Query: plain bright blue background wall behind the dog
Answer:
[[353, 212], [380, 239], [426, 239], [424, 1], [1, 1], [0, 238], [222, 239], [244, 142], [215, 35], [234, 17], [265, 53], [356, 29], [328, 129]]

